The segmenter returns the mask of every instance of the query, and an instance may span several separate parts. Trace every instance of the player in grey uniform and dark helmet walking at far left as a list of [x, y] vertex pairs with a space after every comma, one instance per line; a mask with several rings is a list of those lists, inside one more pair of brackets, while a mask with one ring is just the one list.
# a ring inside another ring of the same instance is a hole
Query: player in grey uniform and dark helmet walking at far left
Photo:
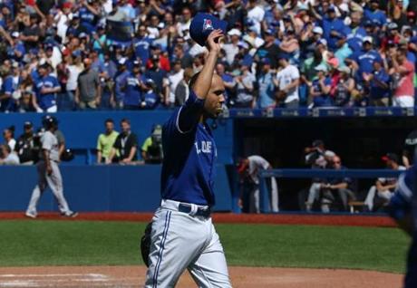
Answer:
[[38, 171], [38, 184], [34, 187], [32, 197], [27, 207], [25, 216], [35, 218], [37, 216], [36, 205], [47, 186], [53, 191], [53, 196], [58, 201], [58, 206], [63, 216], [75, 217], [78, 213], [70, 210], [65, 197], [63, 197], [63, 178], [58, 167], [60, 161], [60, 145], [54, 132], [58, 130], [58, 120], [53, 116], [44, 118], [44, 135], [41, 137], [41, 155], [36, 164]]

